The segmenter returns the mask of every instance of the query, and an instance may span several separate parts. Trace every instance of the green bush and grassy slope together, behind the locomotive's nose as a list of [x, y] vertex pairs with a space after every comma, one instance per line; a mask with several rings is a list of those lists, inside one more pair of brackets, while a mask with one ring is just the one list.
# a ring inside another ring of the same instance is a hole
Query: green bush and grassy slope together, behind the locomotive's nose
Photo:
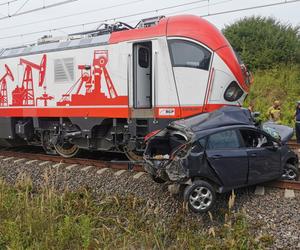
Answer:
[[294, 126], [300, 100], [300, 26], [252, 16], [226, 26], [223, 33], [254, 76], [245, 107], [254, 101], [255, 110], [267, 120], [268, 108], [279, 100], [282, 123]]

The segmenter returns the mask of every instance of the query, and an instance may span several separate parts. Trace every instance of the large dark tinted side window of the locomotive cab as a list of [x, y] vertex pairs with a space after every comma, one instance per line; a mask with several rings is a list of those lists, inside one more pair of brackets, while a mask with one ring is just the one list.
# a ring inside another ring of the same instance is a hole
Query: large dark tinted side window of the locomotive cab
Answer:
[[208, 70], [211, 52], [206, 48], [184, 40], [169, 40], [173, 67], [187, 67]]

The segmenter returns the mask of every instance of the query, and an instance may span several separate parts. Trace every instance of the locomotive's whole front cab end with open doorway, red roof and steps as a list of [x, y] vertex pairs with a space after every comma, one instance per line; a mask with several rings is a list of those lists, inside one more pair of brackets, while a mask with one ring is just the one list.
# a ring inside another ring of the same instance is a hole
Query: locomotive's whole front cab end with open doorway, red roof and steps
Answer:
[[241, 106], [247, 96], [248, 71], [223, 34], [200, 17], [163, 17], [113, 33], [111, 41], [129, 48], [127, 152], [142, 153], [144, 137], [173, 120]]

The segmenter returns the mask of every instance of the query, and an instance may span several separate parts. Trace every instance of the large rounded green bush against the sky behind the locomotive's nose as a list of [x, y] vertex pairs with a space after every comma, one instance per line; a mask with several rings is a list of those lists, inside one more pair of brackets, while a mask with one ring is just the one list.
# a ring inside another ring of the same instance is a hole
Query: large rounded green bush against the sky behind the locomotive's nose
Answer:
[[274, 18], [246, 17], [224, 28], [223, 33], [250, 69], [300, 63], [300, 27]]

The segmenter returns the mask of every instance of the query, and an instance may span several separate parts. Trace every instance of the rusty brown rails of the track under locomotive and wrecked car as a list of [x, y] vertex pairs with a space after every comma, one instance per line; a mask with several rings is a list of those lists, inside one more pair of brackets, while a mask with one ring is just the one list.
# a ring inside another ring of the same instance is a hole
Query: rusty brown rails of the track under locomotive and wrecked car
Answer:
[[[300, 149], [297, 143], [291, 143], [291, 148]], [[25, 152], [24, 152], [25, 151]], [[32, 161], [43, 161], [43, 162], [53, 162], [68, 165], [82, 165], [82, 166], [93, 166], [99, 169], [110, 168], [114, 170], [130, 170], [134, 172], [144, 172], [142, 163], [132, 163], [127, 161], [124, 157], [118, 155], [114, 156], [113, 160], [108, 160], [103, 157], [96, 157], [95, 154], [85, 154], [84, 158], [63, 158], [56, 155], [46, 155], [39, 148], [29, 148], [29, 149], [0, 149], [1, 159], [10, 159], [18, 161], [18, 159], [26, 159]], [[300, 181], [272, 181], [261, 184], [266, 187], [280, 188], [280, 189], [292, 189], [300, 191]]]

